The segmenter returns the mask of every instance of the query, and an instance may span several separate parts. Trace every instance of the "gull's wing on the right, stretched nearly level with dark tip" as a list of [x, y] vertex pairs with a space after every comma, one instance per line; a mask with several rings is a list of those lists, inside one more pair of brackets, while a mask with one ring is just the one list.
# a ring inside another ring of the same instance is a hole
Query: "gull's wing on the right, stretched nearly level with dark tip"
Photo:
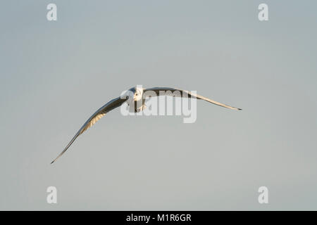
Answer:
[[[194, 96], [195, 98], [198, 98], [198, 99], [202, 99], [204, 101], [208, 101], [209, 103], [213, 103], [215, 105], [219, 105], [219, 106], [222, 106], [222, 107], [225, 107], [225, 108], [230, 108], [232, 110], [241, 110], [241, 108], [235, 108], [235, 107], [232, 107], [230, 105], [225, 105], [223, 103], [218, 103], [218, 101], [213, 101], [209, 98], [206, 98], [204, 96], [199, 96], [198, 94], [192, 94], [190, 91], [185, 91], [185, 90], [182, 90], [182, 89], [174, 89], [174, 88], [170, 88], [170, 87], [153, 87], [153, 88], [150, 88], [150, 89], [144, 89], [144, 94], [145, 96], [148, 96], [147, 94], [147, 91], [154, 91], [156, 93], [156, 96], [160, 96], [160, 91], [165, 91], [164, 94], [168, 94], [166, 93], [166, 91], [171, 91], [172, 93], [174, 93], [175, 95], [173, 96], [178, 96], [178, 93], [180, 94], [180, 97], [182, 96], [188, 96], [188, 97], [192, 97]], [[175, 91], [175, 92], [174, 92]]]

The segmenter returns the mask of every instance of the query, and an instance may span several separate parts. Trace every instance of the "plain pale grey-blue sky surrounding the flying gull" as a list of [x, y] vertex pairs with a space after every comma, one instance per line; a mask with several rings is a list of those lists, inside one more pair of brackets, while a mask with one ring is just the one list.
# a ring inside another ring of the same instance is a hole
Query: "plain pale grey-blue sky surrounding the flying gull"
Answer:
[[[49, 3], [57, 21], [46, 20]], [[1, 1], [0, 210], [317, 210], [316, 8]], [[243, 110], [198, 101], [193, 124], [113, 110], [50, 165], [95, 110], [137, 84]]]

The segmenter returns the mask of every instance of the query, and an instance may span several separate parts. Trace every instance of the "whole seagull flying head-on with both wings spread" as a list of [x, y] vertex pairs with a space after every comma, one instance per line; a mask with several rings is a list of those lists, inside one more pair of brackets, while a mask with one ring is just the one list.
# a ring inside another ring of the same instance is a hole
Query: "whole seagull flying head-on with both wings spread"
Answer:
[[[68, 148], [71, 146], [71, 144], [77, 139], [80, 134], [84, 133], [89, 127], [92, 127], [98, 120], [100, 120], [101, 117], [106, 115], [106, 113], [110, 112], [111, 110], [114, 110], [115, 108], [120, 107], [123, 103], [127, 102], [128, 106], [130, 107], [130, 110], [134, 110], [135, 113], [140, 112], [141, 110], [144, 110], [146, 108], [145, 105], [145, 98], [146, 97], [154, 97], [154, 96], [161, 96], [163, 95], [170, 95], [171, 93], [174, 93], [173, 96], [175, 97], [188, 97], [188, 98], [197, 98], [202, 99], [204, 101], [208, 101], [209, 103], [213, 103], [215, 105], [222, 106], [224, 108], [229, 108], [231, 110], [242, 110], [241, 108], [235, 108], [230, 105], [225, 105], [223, 103], [219, 103], [217, 101], [213, 101], [209, 98], [206, 98], [204, 96], [199, 96], [198, 94], [193, 94], [190, 91], [185, 91], [182, 89], [176, 89], [176, 88], [169, 88], [169, 87], [153, 87], [150, 89], [144, 89], [139, 86], [132, 87], [128, 91], [125, 91], [123, 95], [121, 95], [118, 98], [114, 98], [111, 101], [108, 101], [104, 106], [99, 108], [99, 110], [96, 111], [89, 119], [85, 122], [84, 125], [77, 131], [73, 139], [70, 140], [68, 145], [64, 148], [64, 150], [56, 157], [55, 160], [51, 162], [55, 162], [58, 158], [63, 155], [63, 153], [68, 150]], [[134, 107], [131, 107], [134, 106]]]

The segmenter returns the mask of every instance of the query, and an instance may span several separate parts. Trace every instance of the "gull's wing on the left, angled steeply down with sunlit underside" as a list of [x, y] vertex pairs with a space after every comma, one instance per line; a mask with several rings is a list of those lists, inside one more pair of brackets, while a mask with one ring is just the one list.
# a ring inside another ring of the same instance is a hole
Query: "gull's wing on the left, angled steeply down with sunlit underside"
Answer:
[[[61, 157], [61, 155], [63, 155], [63, 153], [66, 152], [66, 150], [69, 148], [69, 146], [75, 141], [75, 139], [77, 139], [77, 136], [80, 136], [80, 134], [82, 134], [85, 130], [87, 130], [89, 127], [92, 127], [92, 125], [94, 125], [101, 117], [103, 117], [104, 115], [106, 115], [106, 113], [108, 113], [109, 111], [118, 108], [120, 105], [122, 105], [125, 101], [127, 101], [128, 98], [123, 98], [123, 97], [118, 97], [118, 98], [114, 98], [113, 100], [109, 101], [108, 103], [106, 103], [106, 105], [102, 106], [101, 108], [99, 108], [99, 110], [97, 110], [96, 113], [94, 113], [86, 122], [84, 125], [82, 125], [82, 127], [80, 128], [80, 130], [77, 132], [77, 134], [75, 134], [75, 136], [73, 137], [73, 139], [70, 140], [70, 142], [68, 143], [68, 145], [66, 146], [66, 148], [64, 148], [64, 150], [61, 152], [61, 154], [59, 154], [57, 156], [57, 158], [55, 160], [53, 160], [53, 162], [55, 162], [58, 158]], [[51, 162], [51, 164], [53, 163]]]

